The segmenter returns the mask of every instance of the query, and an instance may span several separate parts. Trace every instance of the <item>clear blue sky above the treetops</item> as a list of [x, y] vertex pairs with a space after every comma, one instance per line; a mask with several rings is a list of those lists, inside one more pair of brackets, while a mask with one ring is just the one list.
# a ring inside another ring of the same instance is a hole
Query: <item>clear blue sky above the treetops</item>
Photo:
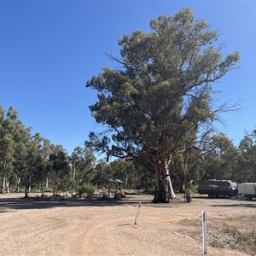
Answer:
[[245, 108], [218, 125], [237, 144], [256, 125], [256, 1], [0, 0], [0, 104], [14, 106], [33, 132], [71, 153], [100, 129], [88, 108], [96, 92], [84, 84], [114, 67], [105, 52], [118, 55], [125, 33], [149, 32], [150, 19], [186, 7], [218, 29], [224, 54], [241, 54], [241, 67], [216, 84], [219, 103]]

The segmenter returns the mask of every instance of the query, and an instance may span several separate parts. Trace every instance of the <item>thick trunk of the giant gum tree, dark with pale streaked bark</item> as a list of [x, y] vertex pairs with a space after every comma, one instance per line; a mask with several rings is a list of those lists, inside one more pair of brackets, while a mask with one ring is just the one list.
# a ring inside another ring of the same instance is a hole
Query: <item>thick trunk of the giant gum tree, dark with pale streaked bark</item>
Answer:
[[169, 203], [176, 195], [172, 189], [172, 182], [169, 172], [169, 160], [157, 160], [154, 162], [155, 191], [154, 203]]

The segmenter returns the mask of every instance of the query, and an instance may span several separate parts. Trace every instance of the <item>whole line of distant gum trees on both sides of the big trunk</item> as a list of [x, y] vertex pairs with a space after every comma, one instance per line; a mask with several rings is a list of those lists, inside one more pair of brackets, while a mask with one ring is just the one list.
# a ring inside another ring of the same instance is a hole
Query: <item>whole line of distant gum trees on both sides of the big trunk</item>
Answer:
[[[39, 133], [32, 135], [15, 108], [0, 107], [0, 191], [75, 192], [78, 187], [100, 177], [123, 181], [123, 189], [154, 192], [154, 172], [143, 156], [135, 160], [96, 161], [91, 148], [76, 147], [68, 155]], [[185, 150], [173, 156], [173, 187], [178, 192], [191, 189], [201, 179], [231, 179], [256, 182], [256, 131], [247, 132], [236, 147], [223, 133], [213, 135], [204, 150]]]

